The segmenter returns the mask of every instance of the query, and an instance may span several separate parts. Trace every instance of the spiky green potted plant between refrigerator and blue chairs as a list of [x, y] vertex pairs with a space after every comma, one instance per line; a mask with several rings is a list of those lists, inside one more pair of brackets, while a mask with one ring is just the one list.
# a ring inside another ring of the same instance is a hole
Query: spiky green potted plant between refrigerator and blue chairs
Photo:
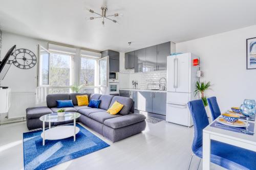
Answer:
[[[200, 81], [197, 81], [197, 84], [196, 84], [196, 90], [195, 90], [195, 95], [198, 94], [198, 98], [199, 99], [202, 99], [203, 103], [204, 103], [204, 107], [205, 107], [205, 110], [207, 112], [207, 115], [209, 117], [209, 109], [208, 109], [208, 102], [207, 102], [207, 97], [204, 95], [204, 92], [206, 90], [209, 90], [211, 89], [211, 83], [210, 82], [200, 82]], [[201, 95], [200, 95], [201, 94]]]

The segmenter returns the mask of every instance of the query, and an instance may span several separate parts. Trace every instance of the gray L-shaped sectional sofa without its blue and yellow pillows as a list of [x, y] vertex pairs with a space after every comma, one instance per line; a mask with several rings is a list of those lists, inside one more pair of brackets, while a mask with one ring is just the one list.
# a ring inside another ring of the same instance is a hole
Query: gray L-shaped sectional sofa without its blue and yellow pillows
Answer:
[[[88, 106], [77, 106], [76, 95], [89, 96], [89, 100], [101, 100], [99, 108], [90, 108]], [[90, 93], [71, 93], [71, 94], [49, 94], [47, 96], [47, 106], [28, 108], [27, 111], [27, 127], [29, 130], [42, 128], [42, 122], [39, 117], [45, 114], [56, 112], [59, 108], [56, 107], [56, 100], [72, 100], [74, 107], [65, 108], [66, 111], [78, 112], [81, 116], [78, 122], [93, 129], [104, 137], [115, 142], [123, 138], [140, 133], [145, 129], [145, 116], [134, 113], [134, 102], [130, 98], [114, 95], [101, 95]], [[106, 112], [113, 103], [117, 101], [123, 104], [122, 110], [111, 115]], [[51, 126], [57, 126], [63, 123], [51, 123]], [[48, 124], [46, 124], [48, 127]]]

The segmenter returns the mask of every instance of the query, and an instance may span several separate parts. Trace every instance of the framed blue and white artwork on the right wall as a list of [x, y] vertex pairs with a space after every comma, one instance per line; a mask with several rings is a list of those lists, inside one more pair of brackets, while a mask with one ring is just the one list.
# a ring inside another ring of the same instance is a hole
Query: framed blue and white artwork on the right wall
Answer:
[[246, 39], [246, 69], [256, 69], [256, 37]]

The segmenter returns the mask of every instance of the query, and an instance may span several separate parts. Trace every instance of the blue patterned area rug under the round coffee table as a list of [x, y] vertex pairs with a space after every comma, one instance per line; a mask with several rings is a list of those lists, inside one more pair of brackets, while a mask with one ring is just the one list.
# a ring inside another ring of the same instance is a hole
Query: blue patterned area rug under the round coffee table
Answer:
[[46, 140], [43, 146], [40, 136], [42, 130], [23, 133], [25, 170], [47, 169], [110, 146], [81, 125], [76, 126], [80, 131], [76, 134], [75, 142], [72, 136], [60, 140]]

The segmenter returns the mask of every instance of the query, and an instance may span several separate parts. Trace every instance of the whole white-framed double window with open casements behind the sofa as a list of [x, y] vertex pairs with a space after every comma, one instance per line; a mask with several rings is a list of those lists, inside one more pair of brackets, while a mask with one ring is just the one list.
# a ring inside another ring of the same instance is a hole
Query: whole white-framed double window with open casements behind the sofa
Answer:
[[46, 86], [47, 94], [70, 93], [70, 86], [80, 84], [84, 85], [80, 92], [99, 91], [99, 53], [80, 50], [79, 56], [77, 48], [49, 43], [48, 51], [38, 46], [38, 86]]

